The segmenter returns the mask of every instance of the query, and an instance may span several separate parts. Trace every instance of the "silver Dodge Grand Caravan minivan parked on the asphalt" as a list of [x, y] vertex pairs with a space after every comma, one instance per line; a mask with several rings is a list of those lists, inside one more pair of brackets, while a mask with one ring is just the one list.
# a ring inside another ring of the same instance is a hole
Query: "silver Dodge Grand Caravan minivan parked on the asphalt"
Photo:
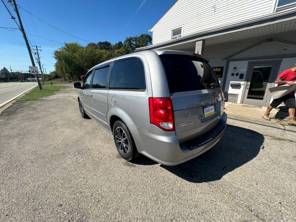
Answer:
[[82, 117], [113, 134], [119, 154], [143, 154], [176, 165], [204, 153], [222, 137], [224, 92], [203, 55], [147, 50], [91, 68], [80, 88]]

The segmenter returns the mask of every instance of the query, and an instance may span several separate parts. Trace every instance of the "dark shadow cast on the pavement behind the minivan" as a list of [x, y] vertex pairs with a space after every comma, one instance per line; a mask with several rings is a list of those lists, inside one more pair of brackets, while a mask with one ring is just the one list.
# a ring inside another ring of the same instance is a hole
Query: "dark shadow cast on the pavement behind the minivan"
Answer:
[[255, 158], [264, 149], [263, 142], [260, 133], [227, 125], [221, 140], [204, 154], [177, 166], [161, 167], [189, 182], [215, 181]]

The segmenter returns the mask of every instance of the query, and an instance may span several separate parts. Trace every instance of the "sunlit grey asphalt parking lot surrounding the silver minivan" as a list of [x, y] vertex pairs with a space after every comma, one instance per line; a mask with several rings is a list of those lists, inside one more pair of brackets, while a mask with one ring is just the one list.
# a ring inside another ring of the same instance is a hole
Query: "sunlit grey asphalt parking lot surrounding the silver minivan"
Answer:
[[0, 221], [296, 221], [296, 127], [228, 116], [191, 161], [126, 162], [74, 90], [0, 115]]

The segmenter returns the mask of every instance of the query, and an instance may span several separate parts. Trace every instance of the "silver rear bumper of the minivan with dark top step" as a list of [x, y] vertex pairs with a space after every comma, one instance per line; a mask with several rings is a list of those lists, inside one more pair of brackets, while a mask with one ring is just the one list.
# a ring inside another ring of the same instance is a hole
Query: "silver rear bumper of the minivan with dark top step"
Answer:
[[186, 162], [212, 148], [223, 135], [227, 115], [223, 113], [218, 125], [202, 138], [179, 144], [175, 131], [166, 132], [155, 125], [150, 131], [128, 126], [133, 135], [138, 152], [163, 165], [173, 166]]

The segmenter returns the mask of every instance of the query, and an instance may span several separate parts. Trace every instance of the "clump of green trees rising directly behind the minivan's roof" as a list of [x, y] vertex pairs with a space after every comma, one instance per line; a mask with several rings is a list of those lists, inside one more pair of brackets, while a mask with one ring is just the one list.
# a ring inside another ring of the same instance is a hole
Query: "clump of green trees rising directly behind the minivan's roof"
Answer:
[[121, 55], [134, 52], [138, 47], [150, 45], [150, 35], [142, 34], [126, 38], [124, 43], [119, 41], [112, 45], [108, 41], [89, 43], [86, 47], [78, 43], [65, 43], [54, 51], [56, 75], [64, 80], [80, 80], [87, 70], [93, 66]]

